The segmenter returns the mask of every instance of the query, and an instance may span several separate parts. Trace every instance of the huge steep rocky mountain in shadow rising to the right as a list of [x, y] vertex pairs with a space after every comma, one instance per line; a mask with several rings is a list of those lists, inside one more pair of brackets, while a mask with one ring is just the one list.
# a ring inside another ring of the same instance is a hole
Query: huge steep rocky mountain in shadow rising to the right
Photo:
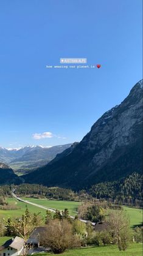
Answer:
[[81, 189], [142, 172], [142, 80], [77, 145], [23, 176], [27, 183]]

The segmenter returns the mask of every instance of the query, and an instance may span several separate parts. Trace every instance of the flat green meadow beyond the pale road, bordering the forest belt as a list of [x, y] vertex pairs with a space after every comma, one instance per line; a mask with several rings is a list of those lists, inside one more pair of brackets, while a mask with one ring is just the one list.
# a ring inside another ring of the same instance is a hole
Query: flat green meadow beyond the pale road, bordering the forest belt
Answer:
[[33, 203], [37, 203], [38, 205], [59, 209], [61, 211], [64, 210], [65, 208], [68, 208], [69, 214], [71, 216], [75, 216], [77, 214], [78, 205], [81, 205], [81, 203], [78, 201], [60, 201], [60, 200], [48, 200], [44, 198], [37, 199], [37, 198], [26, 198], [26, 197], [23, 197], [23, 199], [32, 201]]

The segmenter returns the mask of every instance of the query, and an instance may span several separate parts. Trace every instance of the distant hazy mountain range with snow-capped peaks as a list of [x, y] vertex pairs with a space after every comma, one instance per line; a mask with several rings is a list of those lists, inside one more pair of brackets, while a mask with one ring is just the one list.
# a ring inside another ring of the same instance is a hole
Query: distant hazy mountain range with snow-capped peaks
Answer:
[[28, 173], [35, 168], [46, 165], [54, 157], [69, 148], [71, 144], [52, 147], [25, 146], [18, 149], [0, 148], [0, 161], [9, 164], [15, 173]]

